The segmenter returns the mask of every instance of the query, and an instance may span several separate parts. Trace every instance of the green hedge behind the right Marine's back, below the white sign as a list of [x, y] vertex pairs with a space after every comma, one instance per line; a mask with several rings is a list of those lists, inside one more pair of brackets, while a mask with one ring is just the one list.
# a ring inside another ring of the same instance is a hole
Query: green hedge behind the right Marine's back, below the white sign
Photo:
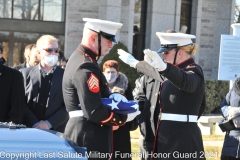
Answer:
[[206, 80], [205, 93], [206, 93], [206, 108], [204, 113], [220, 113], [219, 105], [225, 99], [229, 91], [228, 81]]

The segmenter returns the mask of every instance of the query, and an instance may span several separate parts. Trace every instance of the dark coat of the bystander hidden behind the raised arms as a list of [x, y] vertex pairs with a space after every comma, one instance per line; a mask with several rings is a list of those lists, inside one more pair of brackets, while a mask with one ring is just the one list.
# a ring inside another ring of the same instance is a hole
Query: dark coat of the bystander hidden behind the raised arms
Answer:
[[[134, 97], [138, 101], [141, 111], [141, 114], [138, 116], [138, 123], [141, 135], [146, 143], [153, 144], [160, 112], [158, 102], [160, 82], [146, 75], [143, 75], [140, 81], [141, 86], [139, 86]], [[152, 151], [152, 148], [148, 150]]]

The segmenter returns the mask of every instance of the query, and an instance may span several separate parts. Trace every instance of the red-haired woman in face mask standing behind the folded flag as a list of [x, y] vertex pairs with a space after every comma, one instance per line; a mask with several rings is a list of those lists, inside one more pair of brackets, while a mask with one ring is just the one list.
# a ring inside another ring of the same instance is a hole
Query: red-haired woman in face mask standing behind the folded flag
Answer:
[[[119, 72], [119, 63], [108, 60], [103, 64], [103, 74], [108, 82], [110, 93], [120, 93], [128, 100], [133, 100], [131, 85], [128, 78]], [[135, 124], [134, 124], [135, 123]], [[135, 126], [135, 127], [134, 127]], [[119, 153], [131, 154], [130, 131], [137, 129], [136, 121], [127, 122], [113, 132], [113, 150]], [[114, 153], [114, 152], [113, 152]], [[114, 154], [112, 159], [122, 159], [119, 154]], [[131, 159], [130, 156], [124, 159]]]

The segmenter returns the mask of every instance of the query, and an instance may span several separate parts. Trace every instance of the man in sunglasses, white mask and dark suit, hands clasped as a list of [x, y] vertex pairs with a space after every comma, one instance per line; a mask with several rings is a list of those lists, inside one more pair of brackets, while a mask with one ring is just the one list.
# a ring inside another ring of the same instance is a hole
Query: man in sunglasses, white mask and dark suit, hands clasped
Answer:
[[64, 70], [56, 66], [58, 40], [51, 35], [43, 35], [37, 40], [36, 49], [40, 63], [20, 70], [27, 100], [24, 124], [64, 132], [69, 117], [62, 93]]

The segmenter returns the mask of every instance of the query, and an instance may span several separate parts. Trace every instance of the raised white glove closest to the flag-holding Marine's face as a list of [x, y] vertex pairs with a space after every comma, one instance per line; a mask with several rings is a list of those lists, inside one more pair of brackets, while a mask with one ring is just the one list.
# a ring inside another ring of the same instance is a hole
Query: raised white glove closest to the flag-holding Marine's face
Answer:
[[125, 52], [122, 49], [118, 49], [119, 58], [126, 64], [130, 65], [131, 67], [135, 68], [137, 63], [139, 62], [136, 60], [130, 53]]

